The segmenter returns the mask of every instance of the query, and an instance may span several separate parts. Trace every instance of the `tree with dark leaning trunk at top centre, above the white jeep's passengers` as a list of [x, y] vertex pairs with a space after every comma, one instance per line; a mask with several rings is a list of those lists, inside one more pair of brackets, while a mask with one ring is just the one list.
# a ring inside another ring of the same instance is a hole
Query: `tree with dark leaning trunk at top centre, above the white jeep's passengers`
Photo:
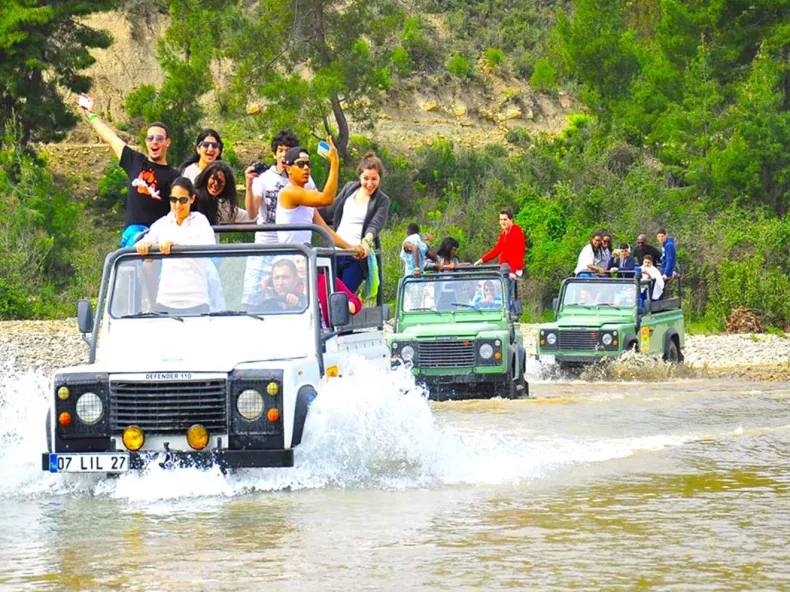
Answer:
[[237, 19], [226, 54], [235, 68], [230, 108], [243, 112], [257, 94], [267, 131], [335, 132], [345, 156], [348, 115], [372, 127], [380, 92], [390, 88], [403, 9], [394, 0], [290, 0], [261, 2]]

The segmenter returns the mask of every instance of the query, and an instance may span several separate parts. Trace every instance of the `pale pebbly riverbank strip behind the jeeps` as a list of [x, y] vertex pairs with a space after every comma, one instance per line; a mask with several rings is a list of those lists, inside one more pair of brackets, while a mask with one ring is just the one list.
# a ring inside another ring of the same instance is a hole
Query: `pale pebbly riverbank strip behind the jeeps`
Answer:
[[[527, 352], [535, 352], [536, 325], [522, 325]], [[790, 381], [790, 337], [768, 334], [691, 335], [686, 337], [685, 365], [679, 371], [652, 358], [626, 357], [595, 378], [663, 378], [670, 376], [733, 376], [753, 380]], [[10, 371], [56, 368], [84, 362], [88, 346], [77, 331], [76, 319], [0, 322], [0, 363]]]

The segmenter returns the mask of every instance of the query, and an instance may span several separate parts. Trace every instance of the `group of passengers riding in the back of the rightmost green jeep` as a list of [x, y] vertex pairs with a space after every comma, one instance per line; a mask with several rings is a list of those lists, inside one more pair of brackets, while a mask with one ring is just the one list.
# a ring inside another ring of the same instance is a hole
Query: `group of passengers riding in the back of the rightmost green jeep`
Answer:
[[[650, 245], [647, 237], [637, 237], [636, 248], [631, 253], [631, 245], [621, 243], [619, 249], [612, 250], [612, 236], [598, 230], [590, 236], [579, 253], [574, 275], [577, 277], [641, 277], [652, 284], [651, 300], [660, 300], [665, 295], [665, 287], [677, 277], [677, 252], [675, 239], [659, 229], [656, 238], [661, 249]], [[646, 290], [642, 298], [645, 299]]]

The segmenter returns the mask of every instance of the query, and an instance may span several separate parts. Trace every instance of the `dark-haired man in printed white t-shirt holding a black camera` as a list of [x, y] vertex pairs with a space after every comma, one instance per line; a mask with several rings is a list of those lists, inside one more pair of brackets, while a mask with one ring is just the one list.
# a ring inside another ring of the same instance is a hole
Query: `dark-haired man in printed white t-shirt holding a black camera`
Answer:
[[[277, 200], [282, 188], [288, 185], [288, 173], [285, 170], [285, 153], [299, 145], [299, 139], [291, 130], [280, 130], [272, 138], [274, 164], [268, 169], [262, 162], [252, 163], [244, 171], [246, 192], [244, 206], [251, 219], [257, 224], [274, 224], [277, 212]], [[313, 178], [305, 185], [305, 189], [315, 189]], [[256, 243], [276, 243], [276, 232], [257, 232]]]

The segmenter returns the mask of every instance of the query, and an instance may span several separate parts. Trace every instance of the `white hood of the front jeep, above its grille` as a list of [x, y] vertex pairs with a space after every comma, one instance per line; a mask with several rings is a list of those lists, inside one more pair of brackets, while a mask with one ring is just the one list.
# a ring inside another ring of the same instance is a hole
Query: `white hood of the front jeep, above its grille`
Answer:
[[229, 372], [242, 362], [304, 358], [315, 352], [309, 323], [249, 317], [113, 322], [97, 362], [110, 372]]

